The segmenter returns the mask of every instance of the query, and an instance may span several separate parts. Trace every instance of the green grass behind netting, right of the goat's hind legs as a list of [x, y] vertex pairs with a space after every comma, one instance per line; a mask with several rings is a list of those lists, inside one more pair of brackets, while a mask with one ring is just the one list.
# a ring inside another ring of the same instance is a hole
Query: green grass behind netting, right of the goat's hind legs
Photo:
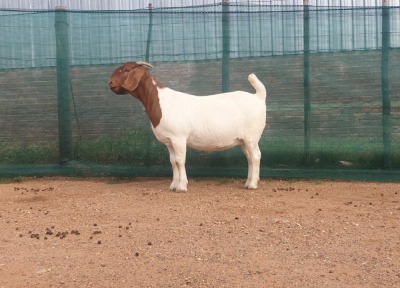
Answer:
[[[320, 137], [311, 140], [310, 167], [325, 169], [379, 169], [383, 166], [380, 139]], [[275, 138], [265, 143], [263, 164], [272, 168], [306, 168], [303, 139]], [[400, 167], [399, 153], [392, 149], [392, 167]]]

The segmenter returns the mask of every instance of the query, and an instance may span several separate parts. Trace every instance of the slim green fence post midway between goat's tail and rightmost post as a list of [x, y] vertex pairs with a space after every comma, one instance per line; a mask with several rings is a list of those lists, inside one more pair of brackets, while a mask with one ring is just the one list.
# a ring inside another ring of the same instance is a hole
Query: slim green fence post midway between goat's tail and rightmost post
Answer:
[[304, 66], [304, 164], [310, 165], [310, 10], [308, 0], [304, 0], [303, 6], [303, 66]]

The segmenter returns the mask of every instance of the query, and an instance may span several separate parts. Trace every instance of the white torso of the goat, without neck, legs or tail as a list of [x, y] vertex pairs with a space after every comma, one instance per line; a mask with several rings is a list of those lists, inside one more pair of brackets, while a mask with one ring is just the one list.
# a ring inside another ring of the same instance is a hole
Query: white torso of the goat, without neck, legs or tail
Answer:
[[157, 139], [168, 144], [183, 137], [191, 148], [226, 150], [244, 139], [261, 136], [265, 127], [265, 100], [247, 92], [193, 96], [159, 89], [162, 119], [152, 127]]

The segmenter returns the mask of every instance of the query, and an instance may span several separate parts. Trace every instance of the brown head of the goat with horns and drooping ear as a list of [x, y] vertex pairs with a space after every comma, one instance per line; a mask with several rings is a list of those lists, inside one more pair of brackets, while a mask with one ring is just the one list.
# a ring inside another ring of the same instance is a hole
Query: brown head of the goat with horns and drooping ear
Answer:
[[132, 94], [138, 87], [143, 75], [147, 72], [147, 67], [152, 66], [144, 62], [127, 62], [119, 66], [111, 74], [110, 89], [119, 95]]

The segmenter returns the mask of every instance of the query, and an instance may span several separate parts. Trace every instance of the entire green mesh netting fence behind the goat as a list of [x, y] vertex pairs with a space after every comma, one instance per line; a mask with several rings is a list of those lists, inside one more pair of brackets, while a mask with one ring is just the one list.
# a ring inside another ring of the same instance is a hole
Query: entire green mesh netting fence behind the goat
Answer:
[[[108, 89], [146, 60], [197, 95], [252, 91], [255, 72], [263, 177], [400, 180], [399, 23], [398, 7], [0, 11], [0, 176], [171, 175], [141, 104]], [[247, 173], [240, 149], [190, 150], [187, 166]]]

